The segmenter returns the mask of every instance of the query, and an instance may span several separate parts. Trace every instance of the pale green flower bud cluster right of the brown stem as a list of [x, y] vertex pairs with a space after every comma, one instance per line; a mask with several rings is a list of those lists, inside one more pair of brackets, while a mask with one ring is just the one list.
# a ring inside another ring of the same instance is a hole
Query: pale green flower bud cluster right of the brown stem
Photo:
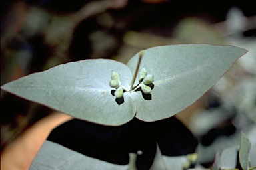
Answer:
[[145, 67], [141, 68], [141, 70], [138, 72], [139, 76], [139, 82], [141, 83], [141, 90], [145, 94], [149, 94], [151, 92], [151, 87], [147, 86], [151, 84], [154, 81], [154, 76], [151, 74], [147, 75], [147, 70]]

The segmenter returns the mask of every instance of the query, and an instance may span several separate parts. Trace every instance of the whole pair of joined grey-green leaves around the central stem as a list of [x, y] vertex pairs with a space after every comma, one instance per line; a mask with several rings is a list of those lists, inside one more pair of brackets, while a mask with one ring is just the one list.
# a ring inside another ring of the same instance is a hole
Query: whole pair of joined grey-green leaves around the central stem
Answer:
[[[139, 70], [154, 76], [151, 93], [134, 90], [132, 76], [139, 55], [127, 66], [113, 60], [71, 62], [20, 78], [1, 88], [76, 118], [98, 124], [120, 125], [135, 114], [143, 121], [169, 118], [193, 104], [247, 50], [235, 46], [189, 44], [158, 46], [143, 52]], [[115, 98], [109, 82], [119, 73], [123, 98]], [[135, 75], [137, 76], [137, 75]], [[131, 84], [131, 86], [130, 86]]]

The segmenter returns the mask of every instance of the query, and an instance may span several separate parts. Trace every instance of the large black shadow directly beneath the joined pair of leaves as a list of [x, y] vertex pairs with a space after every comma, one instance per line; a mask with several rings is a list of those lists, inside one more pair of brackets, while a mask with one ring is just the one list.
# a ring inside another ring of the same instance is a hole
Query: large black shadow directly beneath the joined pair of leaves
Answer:
[[194, 153], [197, 147], [197, 139], [175, 116], [155, 122], [133, 118], [121, 126], [73, 119], [53, 129], [47, 140], [119, 165], [129, 163], [129, 153], [139, 151], [136, 165], [142, 169], [151, 167], [157, 143], [168, 157]]

